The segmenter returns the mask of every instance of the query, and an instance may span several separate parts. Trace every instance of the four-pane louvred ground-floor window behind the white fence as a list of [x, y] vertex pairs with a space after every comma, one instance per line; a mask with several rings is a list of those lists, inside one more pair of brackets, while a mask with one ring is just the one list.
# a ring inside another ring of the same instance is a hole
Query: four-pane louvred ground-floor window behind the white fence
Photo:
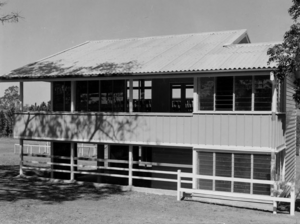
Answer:
[[[198, 174], [215, 177], [270, 180], [271, 157], [261, 154], [198, 152]], [[270, 195], [270, 185], [199, 179], [198, 188]]]

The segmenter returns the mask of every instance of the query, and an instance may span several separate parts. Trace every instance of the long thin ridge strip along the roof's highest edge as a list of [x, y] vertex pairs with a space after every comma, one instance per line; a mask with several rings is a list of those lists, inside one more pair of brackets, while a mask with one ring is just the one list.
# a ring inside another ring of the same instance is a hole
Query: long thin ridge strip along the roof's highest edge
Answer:
[[100, 42], [100, 41], [129, 41], [129, 40], [143, 40], [143, 39], [152, 39], [152, 38], [170, 38], [170, 37], [182, 37], [182, 36], [191, 36], [191, 35], [210, 35], [210, 34], [224, 34], [224, 33], [238, 33], [246, 32], [247, 29], [239, 30], [224, 30], [224, 31], [212, 31], [212, 32], [201, 32], [201, 33], [186, 33], [186, 34], [168, 34], [168, 35], [157, 35], [157, 36], [148, 36], [148, 37], [130, 37], [124, 39], [103, 39], [103, 40], [91, 40], [90, 42]]

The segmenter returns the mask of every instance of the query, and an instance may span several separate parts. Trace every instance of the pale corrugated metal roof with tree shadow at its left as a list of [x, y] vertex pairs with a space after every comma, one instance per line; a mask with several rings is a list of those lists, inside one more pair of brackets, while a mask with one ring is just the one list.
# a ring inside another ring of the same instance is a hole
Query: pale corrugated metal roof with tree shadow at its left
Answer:
[[234, 44], [246, 30], [89, 41], [13, 70], [0, 79], [54, 78], [273, 68], [274, 43]]

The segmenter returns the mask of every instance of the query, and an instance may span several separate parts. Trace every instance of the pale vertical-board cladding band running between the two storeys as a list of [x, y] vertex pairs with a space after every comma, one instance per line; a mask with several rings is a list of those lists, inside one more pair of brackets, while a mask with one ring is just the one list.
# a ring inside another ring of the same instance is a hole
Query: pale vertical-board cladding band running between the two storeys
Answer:
[[[282, 122], [282, 118], [277, 119], [278, 145], [283, 144]], [[271, 127], [271, 114], [18, 113], [14, 137], [187, 147], [268, 148], [271, 147]]]

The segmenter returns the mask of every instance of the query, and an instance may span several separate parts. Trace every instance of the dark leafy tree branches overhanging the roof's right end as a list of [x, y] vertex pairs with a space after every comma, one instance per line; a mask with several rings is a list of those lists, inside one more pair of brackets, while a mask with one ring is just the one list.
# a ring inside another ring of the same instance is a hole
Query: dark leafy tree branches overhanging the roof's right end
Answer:
[[[294, 23], [284, 34], [283, 43], [276, 44], [268, 50], [269, 63], [275, 62], [278, 67], [274, 70], [275, 76], [282, 82], [286, 76], [300, 72], [300, 0], [292, 0], [288, 10]], [[294, 100], [300, 103], [300, 81], [295, 82]]]

